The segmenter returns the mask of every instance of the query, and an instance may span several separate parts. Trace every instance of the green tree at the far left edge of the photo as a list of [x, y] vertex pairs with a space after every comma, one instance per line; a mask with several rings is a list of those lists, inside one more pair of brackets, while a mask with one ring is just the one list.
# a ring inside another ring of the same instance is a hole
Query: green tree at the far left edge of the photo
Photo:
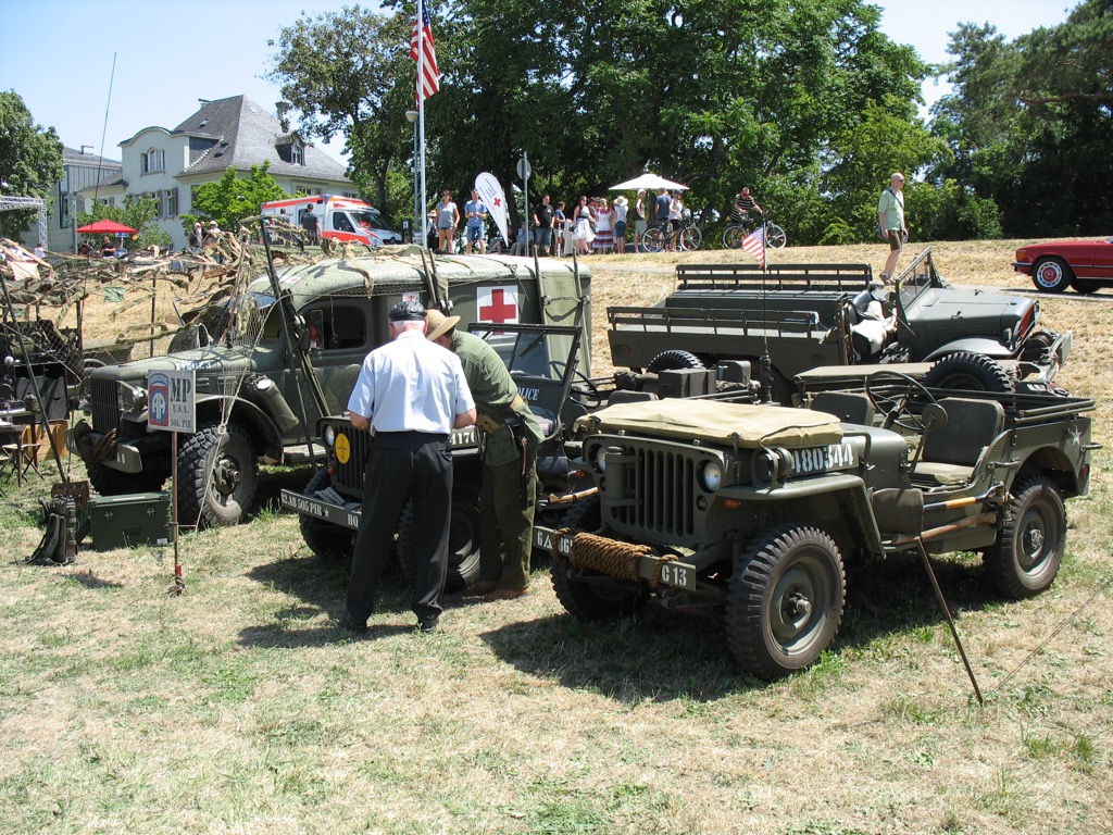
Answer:
[[[62, 178], [62, 144], [53, 128], [36, 125], [22, 97], [0, 92], [0, 194], [49, 199]], [[37, 209], [0, 213], [0, 234], [16, 237], [37, 217]]]

